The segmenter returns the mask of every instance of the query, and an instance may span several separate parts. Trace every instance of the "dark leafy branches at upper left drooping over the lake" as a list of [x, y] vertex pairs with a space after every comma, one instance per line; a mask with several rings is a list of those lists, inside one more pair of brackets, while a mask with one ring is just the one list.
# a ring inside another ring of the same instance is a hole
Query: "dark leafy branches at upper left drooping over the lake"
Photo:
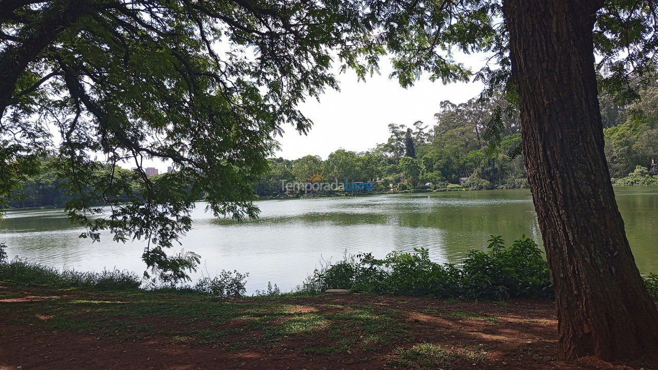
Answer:
[[[465, 66], [445, 63], [432, 47], [422, 55], [406, 52], [430, 40], [424, 36], [429, 28], [411, 24], [456, 14], [440, 5], [398, 5], [8, 4], [0, 17], [0, 203], [36, 174], [39, 159], [56, 153], [53, 166], [72, 197], [68, 215], [88, 228], [88, 238], [111, 230], [120, 242], [147, 240], [149, 271], [182, 269], [166, 278], [184, 278], [193, 261], [166, 250], [190, 230], [199, 194], [215, 215], [257, 216], [251, 185], [266, 173], [266, 157], [284, 124], [309, 130], [299, 103], [338, 88], [332, 66], [351, 68], [363, 80], [390, 50], [399, 51], [396, 76], [403, 84], [411, 84], [418, 68], [432, 68], [433, 78], [445, 82], [468, 78]], [[460, 13], [467, 22], [486, 23], [482, 14]], [[383, 27], [386, 19], [409, 24]], [[445, 24], [442, 29], [456, 30]], [[409, 32], [417, 37], [403, 37]], [[451, 39], [445, 34], [438, 40]], [[59, 145], [50, 124], [61, 133]], [[149, 178], [143, 163], [150, 159], [172, 162], [177, 171]], [[122, 163], [136, 171], [116, 176]], [[110, 214], [97, 217], [99, 204], [111, 206]]]

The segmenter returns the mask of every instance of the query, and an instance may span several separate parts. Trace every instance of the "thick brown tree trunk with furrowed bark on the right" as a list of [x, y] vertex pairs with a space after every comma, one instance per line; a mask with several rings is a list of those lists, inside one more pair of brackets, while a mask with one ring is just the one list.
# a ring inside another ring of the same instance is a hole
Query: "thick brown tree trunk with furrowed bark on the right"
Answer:
[[503, 0], [530, 188], [555, 286], [559, 356], [658, 354], [658, 311], [603, 154], [592, 29], [603, 1]]

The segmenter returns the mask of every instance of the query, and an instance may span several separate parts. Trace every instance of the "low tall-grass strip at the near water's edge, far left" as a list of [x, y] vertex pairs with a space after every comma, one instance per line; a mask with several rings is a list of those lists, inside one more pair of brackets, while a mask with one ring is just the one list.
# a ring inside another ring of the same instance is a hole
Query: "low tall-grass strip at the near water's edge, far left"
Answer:
[[58, 270], [20, 259], [0, 264], [0, 280], [52, 288], [93, 288], [96, 290], [136, 289], [141, 285], [141, 278], [130, 271], [115, 269], [94, 273], [72, 269]]

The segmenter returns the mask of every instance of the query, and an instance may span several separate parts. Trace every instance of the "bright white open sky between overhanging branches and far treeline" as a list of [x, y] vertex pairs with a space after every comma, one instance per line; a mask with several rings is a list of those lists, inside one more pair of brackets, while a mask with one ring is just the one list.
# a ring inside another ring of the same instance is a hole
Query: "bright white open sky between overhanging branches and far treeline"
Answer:
[[[477, 70], [482, 59], [470, 56], [460, 61]], [[422, 120], [431, 127], [441, 101], [462, 103], [483, 88], [480, 82], [443, 85], [423, 79], [404, 89], [397, 80], [388, 78], [391, 71], [388, 63], [382, 63], [381, 74], [366, 82], [357, 82], [356, 74], [349, 71], [339, 76], [340, 92], [327, 90], [319, 102], [305, 101], [299, 109], [313, 120], [311, 131], [303, 136], [292, 126], [284, 126], [286, 132], [278, 138], [281, 149], [276, 156], [297, 159], [311, 154], [326, 159], [341, 147], [351, 151], [372, 149], [388, 139], [388, 124], [413, 127], [413, 122]]]

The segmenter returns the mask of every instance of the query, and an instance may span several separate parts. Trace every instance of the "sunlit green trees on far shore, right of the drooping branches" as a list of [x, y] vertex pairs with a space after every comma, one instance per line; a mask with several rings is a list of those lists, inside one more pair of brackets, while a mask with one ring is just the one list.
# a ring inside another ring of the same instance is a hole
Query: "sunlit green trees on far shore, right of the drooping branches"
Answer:
[[[605, 153], [613, 176], [626, 176], [636, 166], [646, 166], [651, 159], [658, 159], [658, 110], [653, 108], [658, 104], [658, 84], [647, 84], [639, 94], [642, 100], [630, 105], [614, 105], [617, 103], [609, 95], [600, 96], [601, 114], [615, 112], [615, 118], [606, 123], [604, 131]], [[356, 153], [338, 149], [325, 161], [317, 156], [293, 161], [271, 159], [270, 168], [276, 169], [281, 179], [290, 178], [287, 171], [295, 169], [297, 181], [303, 181], [311, 171], [322, 171], [326, 177], [341, 181], [345, 178], [367, 181], [380, 176], [388, 184], [397, 182], [397, 173], [406, 170], [407, 173], [403, 173], [405, 178], [420, 184], [455, 183], [461, 177], [469, 177], [471, 180], [467, 186], [470, 189], [528, 188], [520, 149], [519, 116], [509, 111], [510, 105], [502, 96], [479, 97], [460, 104], [442, 101], [430, 130], [420, 121], [415, 122], [413, 128], [389, 124], [388, 141], [370, 151]], [[643, 112], [642, 115], [632, 114], [638, 110]], [[499, 115], [501, 122], [500, 140], [492, 148], [486, 139], [486, 124], [493, 115]], [[411, 148], [412, 142], [420, 174], [415, 164], [404, 159], [411, 157], [405, 155], [405, 151], [407, 147]], [[286, 170], [282, 169], [282, 163]], [[409, 171], [409, 165], [413, 166], [412, 171]], [[617, 184], [645, 183], [640, 180], [618, 178]], [[257, 189], [266, 188], [266, 184], [265, 181], [259, 182]], [[259, 191], [258, 194], [276, 193]]]

